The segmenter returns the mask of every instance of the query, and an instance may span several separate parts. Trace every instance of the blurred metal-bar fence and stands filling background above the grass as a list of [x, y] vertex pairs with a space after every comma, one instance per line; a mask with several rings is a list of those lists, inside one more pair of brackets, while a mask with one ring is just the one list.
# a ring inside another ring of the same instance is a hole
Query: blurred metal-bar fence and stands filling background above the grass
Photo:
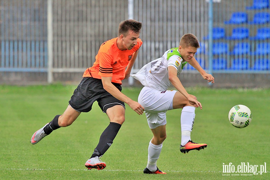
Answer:
[[[269, 0], [213, 0], [212, 8], [208, 1], [0, 0], [0, 83], [77, 84], [99, 46], [132, 17], [143, 23], [134, 72], [193, 33], [195, 57], [215, 87], [270, 87]], [[190, 65], [179, 78], [208, 85]]]

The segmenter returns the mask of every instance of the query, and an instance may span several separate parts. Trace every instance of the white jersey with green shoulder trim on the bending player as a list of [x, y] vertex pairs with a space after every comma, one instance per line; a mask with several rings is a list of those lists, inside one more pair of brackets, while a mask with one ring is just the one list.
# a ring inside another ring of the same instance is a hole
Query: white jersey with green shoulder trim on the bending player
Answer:
[[131, 74], [131, 76], [139, 80], [144, 86], [158, 91], [166, 91], [171, 85], [168, 76], [168, 67], [175, 67], [177, 74], [179, 74], [186, 63], [186, 61], [183, 62], [178, 47], [176, 47], [167, 50], [161, 58], [149, 62], [139, 72]]

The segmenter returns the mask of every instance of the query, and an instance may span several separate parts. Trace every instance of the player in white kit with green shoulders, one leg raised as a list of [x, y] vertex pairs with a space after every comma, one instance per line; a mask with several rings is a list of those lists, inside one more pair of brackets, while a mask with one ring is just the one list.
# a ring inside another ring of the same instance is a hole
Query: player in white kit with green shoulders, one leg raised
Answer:
[[[214, 77], [206, 73], [194, 58], [199, 47], [195, 35], [185, 34], [182, 36], [178, 48], [167, 50], [161, 58], [149, 62], [138, 73], [131, 75], [144, 85], [138, 102], [145, 108], [147, 122], [154, 135], [149, 143], [148, 163], [143, 173], [166, 174], [158, 169], [157, 160], [161, 153], [162, 143], [166, 139], [167, 110], [182, 108], [180, 145], [182, 153], [204, 149], [207, 146], [203, 143], [194, 143], [190, 139], [195, 108], [202, 109], [202, 105], [194, 95], [187, 93], [177, 77], [184, 65], [189, 63], [199, 71], [203, 79], [214, 83]], [[177, 91], [167, 90], [171, 84]]]

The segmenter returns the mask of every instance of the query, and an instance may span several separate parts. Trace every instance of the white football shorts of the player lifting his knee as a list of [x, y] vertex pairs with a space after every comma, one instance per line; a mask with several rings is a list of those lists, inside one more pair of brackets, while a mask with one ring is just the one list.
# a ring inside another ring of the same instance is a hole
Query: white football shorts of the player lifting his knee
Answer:
[[138, 103], [144, 107], [150, 129], [166, 125], [166, 112], [173, 109], [175, 93], [175, 90], [158, 91], [143, 87], [138, 97]]

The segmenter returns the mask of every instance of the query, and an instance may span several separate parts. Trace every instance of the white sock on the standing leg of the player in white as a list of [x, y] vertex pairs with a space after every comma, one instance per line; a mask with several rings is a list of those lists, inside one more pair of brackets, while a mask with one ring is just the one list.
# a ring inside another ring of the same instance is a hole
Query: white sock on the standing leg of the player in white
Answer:
[[154, 145], [150, 141], [149, 146], [148, 146], [148, 162], [147, 162], [146, 167], [152, 172], [157, 170], [157, 161], [161, 153], [161, 149], [162, 149], [162, 144]]

